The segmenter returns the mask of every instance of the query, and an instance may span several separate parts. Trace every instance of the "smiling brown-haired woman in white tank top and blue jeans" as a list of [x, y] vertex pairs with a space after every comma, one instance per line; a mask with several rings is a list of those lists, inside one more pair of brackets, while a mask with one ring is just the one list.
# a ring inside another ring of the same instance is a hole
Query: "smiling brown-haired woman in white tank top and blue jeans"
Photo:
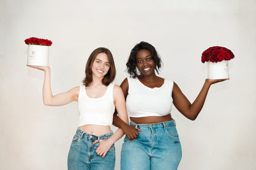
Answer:
[[47, 106], [63, 106], [78, 102], [79, 122], [68, 153], [68, 169], [114, 169], [114, 142], [124, 133], [110, 129], [116, 108], [120, 118], [128, 123], [124, 95], [113, 82], [116, 75], [113, 56], [107, 48], [97, 48], [86, 64], [84, 85], [66, 93], [52, 95], [50, 68], [31, 66], [45, 73], [43, 100]]

